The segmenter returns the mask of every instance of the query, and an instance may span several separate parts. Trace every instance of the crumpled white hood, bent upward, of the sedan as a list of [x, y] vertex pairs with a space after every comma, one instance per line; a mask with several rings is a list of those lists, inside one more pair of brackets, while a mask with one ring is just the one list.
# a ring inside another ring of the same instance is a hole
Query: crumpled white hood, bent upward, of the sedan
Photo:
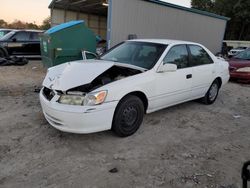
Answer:
[[60, 91], [91, 83], [100, 74], [114, 66], [110, 61], [74, 61], [48, 69], [43, 86]]

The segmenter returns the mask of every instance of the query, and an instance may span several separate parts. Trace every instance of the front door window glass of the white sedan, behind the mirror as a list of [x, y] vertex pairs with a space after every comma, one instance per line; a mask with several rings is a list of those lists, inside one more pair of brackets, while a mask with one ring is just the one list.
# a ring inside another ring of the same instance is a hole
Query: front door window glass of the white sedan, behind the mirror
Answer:
[[164, 58], [163, 63], [175, 64], [178, 69], [188, 67], [188, 51], [186, 45], [178, 45], [171, 48]]

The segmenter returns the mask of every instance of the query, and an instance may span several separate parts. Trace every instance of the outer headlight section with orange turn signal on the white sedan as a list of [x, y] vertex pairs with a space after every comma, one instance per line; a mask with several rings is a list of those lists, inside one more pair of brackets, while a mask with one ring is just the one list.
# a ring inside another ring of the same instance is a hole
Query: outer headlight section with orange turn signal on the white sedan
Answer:
[[84, 105], [94, 106], [94, 105], [102, 104], [105, 101], [107, 94], [108, 94], [107, 91], [89, 93], [85, 96]]

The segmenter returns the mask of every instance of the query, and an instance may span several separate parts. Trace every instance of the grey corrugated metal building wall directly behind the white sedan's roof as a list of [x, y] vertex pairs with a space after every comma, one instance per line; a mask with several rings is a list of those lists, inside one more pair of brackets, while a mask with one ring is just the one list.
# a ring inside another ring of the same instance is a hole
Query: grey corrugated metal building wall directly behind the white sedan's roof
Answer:
[[112, 0], [111, 46], [127, 39], [165, 38], [199, 42], [219, 52], [226, 20], [187, 12], [143, 0]]

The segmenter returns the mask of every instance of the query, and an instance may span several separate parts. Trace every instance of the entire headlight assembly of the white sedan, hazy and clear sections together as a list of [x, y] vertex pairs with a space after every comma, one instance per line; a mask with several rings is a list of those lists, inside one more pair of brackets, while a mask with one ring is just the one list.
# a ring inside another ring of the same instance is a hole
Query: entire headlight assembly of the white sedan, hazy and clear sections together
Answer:
[[89, 93], [85, 96], [81, 95], [61, 95], [58, 102], [61, 104], [78, 105], [78, 106], [94, 106], [102, 104], [107, 96], [107, 91], [99, 91]]

